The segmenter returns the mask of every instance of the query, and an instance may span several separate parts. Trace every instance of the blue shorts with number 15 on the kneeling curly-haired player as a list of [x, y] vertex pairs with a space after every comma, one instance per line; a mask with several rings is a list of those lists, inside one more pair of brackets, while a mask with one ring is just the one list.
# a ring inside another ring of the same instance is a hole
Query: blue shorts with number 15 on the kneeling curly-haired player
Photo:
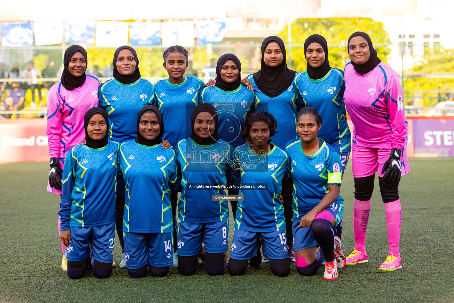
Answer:
[[285, 230], [256, 233], [237, 228], [233, 231], [230, 258], [248, 260], [257, 256], [258, 246], [260, 245], [258, 238], [262, 238], [262, 251], [268, 258], [288, 258]]

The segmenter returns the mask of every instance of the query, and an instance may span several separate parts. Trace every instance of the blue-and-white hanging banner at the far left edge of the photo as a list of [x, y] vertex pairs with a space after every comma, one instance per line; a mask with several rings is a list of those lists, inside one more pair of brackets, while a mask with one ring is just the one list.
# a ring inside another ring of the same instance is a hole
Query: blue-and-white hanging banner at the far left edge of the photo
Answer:
[[31, 22], [2, 22], [1, 46], [32, 46]]

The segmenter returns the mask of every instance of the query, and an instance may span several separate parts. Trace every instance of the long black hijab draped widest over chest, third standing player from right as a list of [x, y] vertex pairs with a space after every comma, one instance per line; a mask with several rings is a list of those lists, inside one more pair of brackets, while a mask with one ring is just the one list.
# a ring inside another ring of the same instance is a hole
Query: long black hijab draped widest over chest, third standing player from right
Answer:
[[[266, 46], [271, 42], [277, 42], [282, 51], [282, 63], [276, 67], [266, 65], [263, 59]], [[262, 42], [260, 70], [257, 73], [254, 73], [254, 81], [257, 84], [257, 88], [268, 97], [274, 98], [289, 88], [293, 81], [293, 77], [295, 77], [295, 71], [287, 68], [284, 41], [277, 36], [265, 38]]]

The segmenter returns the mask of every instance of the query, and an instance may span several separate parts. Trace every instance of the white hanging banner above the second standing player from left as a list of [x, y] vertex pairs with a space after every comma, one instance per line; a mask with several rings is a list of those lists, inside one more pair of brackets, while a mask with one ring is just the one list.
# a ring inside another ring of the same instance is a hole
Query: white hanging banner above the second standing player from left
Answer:
[[96, 22], [96, 46], [118, 47], [128, 44], [128, 23], [116, 21]]

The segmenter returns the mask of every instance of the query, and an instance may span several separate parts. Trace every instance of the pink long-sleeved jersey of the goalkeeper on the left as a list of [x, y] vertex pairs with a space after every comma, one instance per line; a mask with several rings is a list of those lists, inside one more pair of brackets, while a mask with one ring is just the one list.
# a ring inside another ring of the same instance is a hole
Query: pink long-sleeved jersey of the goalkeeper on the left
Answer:
[[[65, 89], [57, 82], [49, 89], [47, 98], [47, 137], [49, 158], [59, 158], [63, 169], [66, 152], [85, 140], [84, 115], [88, 109], [98, 106], [99, 79], [85, 74], [85, 83], [75, 89]], [[60, 190], [47, 187], [49, 192]]]

